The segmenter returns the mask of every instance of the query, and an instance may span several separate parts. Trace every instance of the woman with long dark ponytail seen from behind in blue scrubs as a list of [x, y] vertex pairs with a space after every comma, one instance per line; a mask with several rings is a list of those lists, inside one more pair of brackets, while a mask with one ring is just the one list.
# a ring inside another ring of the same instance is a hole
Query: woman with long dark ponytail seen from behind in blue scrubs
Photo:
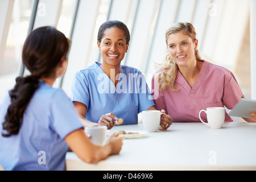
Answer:
[[122, 139], [96, 146], [84, 133], [71, 100], [52, 88], [64, 75], [69, 40], [54, 27], [28, 35], [22, 61], [31, 75], [17, 77], [0, 106], [0, 164], [5, 170], [63, 170], [68, 146], [88, 163], [119, 154]]

